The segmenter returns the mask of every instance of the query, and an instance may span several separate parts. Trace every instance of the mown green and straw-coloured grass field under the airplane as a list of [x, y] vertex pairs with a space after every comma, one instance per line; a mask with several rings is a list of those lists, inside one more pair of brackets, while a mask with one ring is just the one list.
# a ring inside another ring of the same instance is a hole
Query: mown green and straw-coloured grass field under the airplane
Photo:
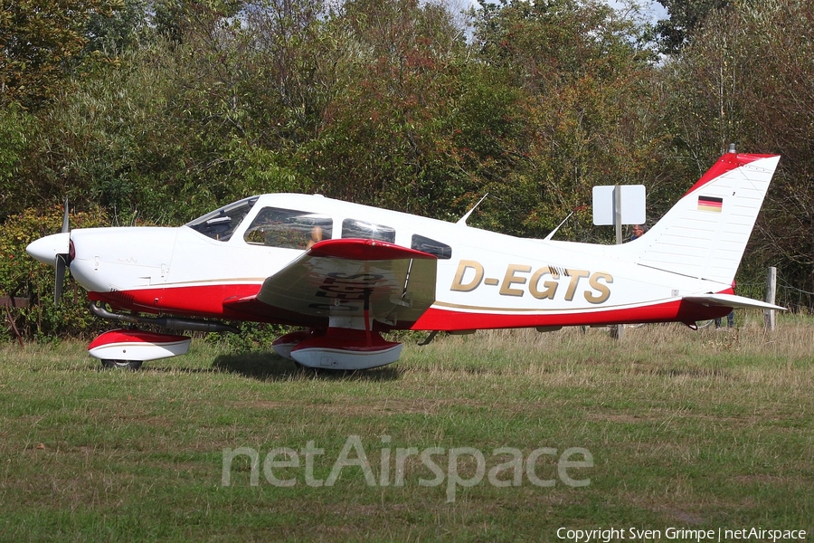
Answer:
[[8, 343], [0, 539], [811, 538], [814, 320], [749, 319], [479, 332], [343, 376], [204, 341], [138, 372]]

